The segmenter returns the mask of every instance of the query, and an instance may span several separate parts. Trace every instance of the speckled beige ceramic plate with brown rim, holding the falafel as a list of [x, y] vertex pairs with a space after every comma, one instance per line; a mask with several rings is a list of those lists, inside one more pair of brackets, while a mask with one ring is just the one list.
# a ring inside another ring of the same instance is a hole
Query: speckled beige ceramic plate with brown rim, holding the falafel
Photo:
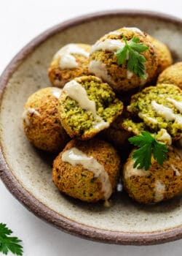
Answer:
[[154, 12], [112, 11], [68, 20], [45, 31], [15, 56], [1, 75], [1, 178], [10, 192], [38, 217], [82, 238], [113, 244], [159, 244], [182, 238], [182, 199], [156, 206], [133, 203], [116, 193], [113, 206], [87, 204], [60, 195], [52, 183], [52, 159], [25, 138], [23, 105], [30, 94], [50, 85], [53, 54], [69, 42], [92, 44], [108, 31], [136, 26], [161, 39], [182, 60], [182, 21]]

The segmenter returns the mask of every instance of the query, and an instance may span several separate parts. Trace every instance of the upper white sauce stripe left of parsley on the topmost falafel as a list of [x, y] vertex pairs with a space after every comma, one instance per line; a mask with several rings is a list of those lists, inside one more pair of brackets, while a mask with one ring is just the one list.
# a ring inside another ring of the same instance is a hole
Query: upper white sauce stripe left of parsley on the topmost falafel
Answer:
[[124, 48], [125, 42], [121, 42], [118, 39], [106, 39], [105, 41], [98, 41], [95, 45], [92, 45], [90, 53], [94, 53], [96, 50], [116, 51]]

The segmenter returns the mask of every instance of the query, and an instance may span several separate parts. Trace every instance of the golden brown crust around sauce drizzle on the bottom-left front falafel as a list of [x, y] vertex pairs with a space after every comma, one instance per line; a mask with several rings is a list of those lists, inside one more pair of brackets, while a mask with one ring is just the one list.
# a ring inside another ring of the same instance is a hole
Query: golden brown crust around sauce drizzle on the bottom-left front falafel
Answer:
[[61, 192], [87, 202], [104, 200], [102, 184], [99, 178], [94, 177], [94, 173], [84, 169], [82, 165], [72, 166], [62, 161], [63, 152], [73, 147], [83, 151], [88, 157], [94, 157], [100, 165], [103, 165], [113, 191], [119, 178], [119, 155], [109, 143], [103, 140], [94, 139], [87, 142], [71, 140], [53, 163], [52, 178]]

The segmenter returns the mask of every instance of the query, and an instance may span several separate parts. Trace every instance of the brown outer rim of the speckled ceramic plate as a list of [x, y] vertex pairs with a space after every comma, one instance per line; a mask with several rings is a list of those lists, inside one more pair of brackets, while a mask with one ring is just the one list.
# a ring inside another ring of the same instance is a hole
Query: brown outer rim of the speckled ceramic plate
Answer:
[[[175, 23], [178, 26], [182, 26], [182, 20], [175, 18], [171, 15], [165, 15], [160, 12], [149, 12], [149, 11], [135, 11], [135, 10], [111, 10], [103, 12], [95, 12], [89, 15], [83, 15], [79, 18], [73, 18], [67, 20], [66, 22], [60, 23], [57, 26], [44, 31], [38, 37], [33, 39], [28, 45], [20, 50], [19, 53], [15, 56], [14, 59], [9, 63], [7, 68], [1, 75], [0, 78], [0, 104], [2, 102], [2, 97], [4, 94], [4, 89], [8, 83], [8, 80], [11, 78], [12, 74], [15, 72], [17, 67], [23, 62], [23, 59], [27, 58], [28, 55], [42, 42], [44, 42], [49, 37], [52, 37], [54, 34], [57, 34], [64, 29], [67, 29], [71, 26], [76, 26], [79, 23], [84, 23], [89, 20], [96, 18], [101, 18], [103, 16], [143, 16], [158, 18], [159, 20], [170, 21]], [[33, 195], [31, 195], [22, 185], [17, 181], [15, 176], [12, 174], [5, 156], [3, 154], [3, 149], [1, 147], [0, 151], [0, 177], [1, 180], [6, 185], [9, 192], [14, 195], [20, 203], [28, 208], [29, 211], [32, 211], [37, 217], [40, 217], [46, 222], [51, 223], [55, 227], [58, 227], [60, 230], [65, 231], [66, 233], [79, 236], [81, 238], [87, 238], [92, 241], [100, 241], [108, 244], [127, 244], [127, 245], [151, 245], [151, 244], [162, 244], [168, 241], [175, 241], [182, 238], [182, 225], [175, 227], [169, 230], [160, 230], [157, 232], [151, 233], [124, 233], [124, 232], [115, 232], [108, 230], [100, 230], [93, 227], [88, 227], [87, 225], [74, 222], [71, 219], [61, 216], [60, 214], [55, 213], [47, 206], [44, 206], [43, 203], [39, 202]]]

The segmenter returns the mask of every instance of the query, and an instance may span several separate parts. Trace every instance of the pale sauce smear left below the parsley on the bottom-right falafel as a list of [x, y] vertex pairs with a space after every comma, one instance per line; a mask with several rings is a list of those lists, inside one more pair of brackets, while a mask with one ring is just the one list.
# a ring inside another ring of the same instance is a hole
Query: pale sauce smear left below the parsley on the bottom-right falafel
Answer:
[[127, 162], [127, 165], [124, 167], [124, 178], [130, 178], [131, 176], [146, 176], [149, 173], [149, 170], [145, 170], [145, 168], [138, 169], [134, 168], [134, 161], [130, 160], [130, 162]]

